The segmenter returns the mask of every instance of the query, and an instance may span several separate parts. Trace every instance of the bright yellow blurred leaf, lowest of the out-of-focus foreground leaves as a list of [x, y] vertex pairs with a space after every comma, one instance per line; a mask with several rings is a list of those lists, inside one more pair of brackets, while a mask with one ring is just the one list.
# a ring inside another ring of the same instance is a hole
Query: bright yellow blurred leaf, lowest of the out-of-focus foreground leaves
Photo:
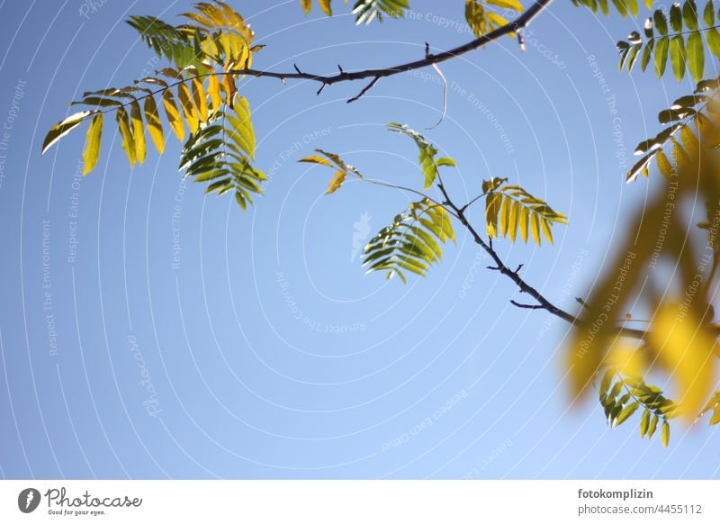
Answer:
[[649, 339], [662, 366], [676, 379], [679, 411], [693, 420], [715, 384], [715, 337], [692, 310], [664, 303], [655, 312]]

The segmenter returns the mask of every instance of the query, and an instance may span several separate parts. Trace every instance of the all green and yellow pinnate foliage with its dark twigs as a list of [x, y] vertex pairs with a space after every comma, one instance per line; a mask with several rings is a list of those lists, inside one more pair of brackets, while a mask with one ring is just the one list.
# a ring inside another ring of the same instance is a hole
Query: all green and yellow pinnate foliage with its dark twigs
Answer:
[[[340, 69], [332, 76], [302, 72], [297, 66], [286, 72], [253, 68], [255, 55], [263, 46], [253, 43], [254, 32], [242, 15], [219, 0], [194, 5], [193, 11], [180, 14], [176, 23], [133, 15], [127, 23], [165, 60], [165, 67], [128, 86], [86, 92], [71, 103], [81, 110], [49, 130], [42, 153], [70, 131], [85, 126], [87, 175], [100, 158], [106, 125], [120, 133], [130, 167], [143, 163], [148, 142], [162, 155], [166, 140], [175, 137], [183, 144], [179, 160], [183, 176], [205, 185], [206, 193], [233, 194], [245, 210], [263, 194], [266, 176], [255, 165], [251, 105], [238, 87], [244, 77], [309, 80], [320, 85], [319, 94], [340, 82], [365, 82], [358, 95], [348, 100], [354, 102], [384, 77], [415, 68], [438, 68], [446, 60], [504, 36], [517, 39], [519, 49], [524, 49], [523, 30], [551, 2], [537, 0], [524, 6], [518, 0], [465, 0], [463, 5], [458, 0], [458, 15], [464, 13], [474, 40], [437, 54], [426, 46], [424, 57], [404, 64], [353, 72]], [[714, 60], [720, 59], [720, 12], [713, 0], [705, 5], [686, 0], [669, 10], [654, 11], [651, 0], [644, 5], [637, 0], [572, 3], [593, 13], [623, 18], [637, 18], [641, 10], [646, 11], [643, 33], [633, 31], [617, 42], [620, 71], [638, 74], [649, 68], [662, 78], [671, 70], [678, 81], [692, 78], [697, 83], [692, 93], [660, 111], [659, 131], [638, 144], [635, 155], [640, 158], [626, 181], [657, 171], [662, 176], [649, 179], [649, 183], [659, 187], [626, 221], [626, 239], [612, 248], [587, 296], [578, 297], [576, 312], [554, 305], [521, 276], [522, 264], [513, 268], [493, 248], [493, 241], [519, 239], [537, 246], [544, 241], [552, 244], [554, 227], [568, 223], [563, 212], [554, 211], [544, 198], [502, 174], [467, 181], [478, 194], [459, 203], [443, 183], [443, 176], [456, 176], [455, 160], [440, 156], [436, 146], [418, 131], [395, 122], [389, 123], [387, 130], [409, 139], [418, 151], [417, 185], [413, 187], [364, 175], [340, 155], [324, 149], [308, 151], [298, 160], [332, 171], [328, 194], [346, 190], [344, 183], [354, 178], [417, 196], [365, 246], [363, 265], [368, 273], [397, 276], [402, 282], [410, 276], [426, 276], [430, 267], [441, 261], [448, 241], [455, 242], [455, 228], [465, 230], [491, 257], [494, 266], [489, 269], [509, 278], [520, 294], [529, 297], [527, 303], [511, 303], [545, 310], [571, 324], [565, 357], [573, 395], [580, 398], [597, 391], [611, 427], [635, 420], [641, 438], [659, 434], [667, 447], [675, 418], [696, 422], [709, 415], [711, 425], [720, 422], [720, 392], [713, 392], [720, 357], [720, 323], [714, 307], [720, 264], [720, 178], [716, 176], [720, 170], [720, 77], [712, 75]], [[319, 7], [331, 16], [333, 8], [341, 5], [360, 26], [388, 20], [399, 23], [410, 9], [407, 0], [345, 4], [347, 1], [301, 0], [300, 8], [308, 14]], [[638, 133], [641, 127], [642, 122], [637, 122]], [[437, 191], [429, 194], [431, 189]], [[466, 213], [478, 202], [484, 203], [484, 221], [473, 223]], [[646, 317], [647, 330], [629, 327], [628, 320], [636, 312]], [[671, 393], [649, 384], [651, 377]]]

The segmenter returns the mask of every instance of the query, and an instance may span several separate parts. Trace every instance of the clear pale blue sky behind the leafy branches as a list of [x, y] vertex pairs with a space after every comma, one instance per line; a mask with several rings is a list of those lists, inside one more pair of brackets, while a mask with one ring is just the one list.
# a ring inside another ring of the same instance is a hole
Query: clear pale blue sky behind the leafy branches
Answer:
[[[419, 187], [417, 149], [383, 124], [437, 122], [432, 69], [354, 104], [361, 84], [316, 96], [311, 83], [240, 83], [270, 175], [266, 197], [241, 212], [181, 184], [175, 142], [131, 170], [112, 124], [91, 176], [78, 173], [84, 131], [40, 157], [69, 101], [158, 67], [123, 20], [178, 20], [190, 5], [89, 4], [0, 2], [1, 476], [717, 477], [720, 438], [706, 422], [674, 426], [663, 449], [639, 438], [637, 420], [609, 429], [594, 399], [570, 410], [567, 325], [509, 304], [517, 288], [484, 269], [464, 231], [428, 278], [364, 276], [357, 245], [409, 196], [358, 183], [326, 196], [329, 170], [296, 160], [327, 149]], [[295, 1], [231, 4], [267, 44], [257, 68], [276, 71], [391, 66], [421, 57], [425, 41], [472, 38], [460, 0], [412, 0], [408, 19], [360, 28], [337, 0], [331, 19]], [[569, 215], [554, 246], [496, 246], [572, 312], [653, 187], [624, 184], [635, 144], [693, 88], [618, 73], [614, 43], [636, 24], [557, 0], [527, 52], [505, 39], [444, 64], [447, 116], [424, 131], [458, 162], [446, 170], [457, 201], [509, 176]], [[471, 216], [481, 223], [482, 205]]]

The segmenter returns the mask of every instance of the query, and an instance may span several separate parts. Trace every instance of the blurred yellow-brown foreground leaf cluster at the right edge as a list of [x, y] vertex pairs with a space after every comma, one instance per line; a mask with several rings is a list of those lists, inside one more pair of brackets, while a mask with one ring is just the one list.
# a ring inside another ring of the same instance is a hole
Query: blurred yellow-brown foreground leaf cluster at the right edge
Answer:
[[[717, 123], [714, 118], [707, 120]], [[632, 356], [622, 360], [635, 363], [624, 370], [631, 388], [653, 368], [670, 376], [675, 388], [673, 404], [653, 396], [644, 402], [634, 400], [651, 411], [647, 417], [663, 419], [665, 443], [670, 428], [665, 429], [664, 422], [671, 416], [696, 420], [712, 410], [711, 423], [718, 421], [718, 397], [712, 392], [720, 355], [713, 305], [720, 252], [720, 158], [716, 149], [698, 143], [693, 149], [676, 151], [675, 158], [667, 160], [667, 177], [659, 179], [662, 191], [626, 221], [626, 238], [614, 239], [614, 255], [585, 301], [566, 353], [576, 395], [585, 393], [604, 367], [617, 370], [618, 345]], [[698, 214], [703, 215], [702, 221], [695, 225]], [[635, 316], [636, 311], [648, 312], [652, 321], [646, 336], [628, 339], [622, 319], [628, 313]], [[632, 394], [639, 393], [631, 391], [631, 397], [620, 399], [625, 402], [616, 402], [617, 395], [603, 390], [601, 398], [611, 420], [617, 420], [628, 409]], [[647, 431], [641, 429], [643, 434]]]

